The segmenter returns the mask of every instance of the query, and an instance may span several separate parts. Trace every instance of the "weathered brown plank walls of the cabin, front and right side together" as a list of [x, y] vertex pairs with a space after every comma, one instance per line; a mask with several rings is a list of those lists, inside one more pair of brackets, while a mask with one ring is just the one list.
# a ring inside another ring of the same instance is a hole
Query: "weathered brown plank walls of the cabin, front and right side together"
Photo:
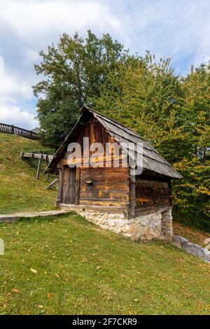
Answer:
[[[122, 166], [121, 150], [118, 155], [113, 155], [113, 148], [110, 146], [109, 155], [105, 155], [106, 144], [116, 143], [113, 136], [94, 116], [88, 114], [86, 120], [72, 137], [72, 141], [82, 147], [80, 157], [71, 161], [71, 165], [77, 166], [69, 168], [67, 146], [64, 158], [57, 162], [59, 203], [80, 204], [81, 207], [125, 207], [130, 218], [135, 216], [137, 209], [170, 205], [170, 179], [150, 174], [131, 176], [129, 167]], [[84, 137], [89, 137], [88, 144], [83, 144]], [[101, 153], [92, 158], [94, 166], [89, 165], [93, 155], [90, 150], [92, 143], [101, 143], [103, 148]], [[105, 162], [109, 164], [107, 167], [104, 167]]]

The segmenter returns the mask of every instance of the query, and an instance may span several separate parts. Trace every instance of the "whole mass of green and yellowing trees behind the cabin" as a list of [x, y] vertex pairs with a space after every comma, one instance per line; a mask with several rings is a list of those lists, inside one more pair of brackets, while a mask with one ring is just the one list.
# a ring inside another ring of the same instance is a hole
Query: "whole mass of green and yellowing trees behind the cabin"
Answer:
[[130, 55], [109, 34], [63, 34], [40, 52], [34, 94], [42, 140], [59, 145], [84, 103], [132, 128], [183, 175], [174, 184], [174, 216], [210, 231], [210, 65], [176, 75], [170, 59]]

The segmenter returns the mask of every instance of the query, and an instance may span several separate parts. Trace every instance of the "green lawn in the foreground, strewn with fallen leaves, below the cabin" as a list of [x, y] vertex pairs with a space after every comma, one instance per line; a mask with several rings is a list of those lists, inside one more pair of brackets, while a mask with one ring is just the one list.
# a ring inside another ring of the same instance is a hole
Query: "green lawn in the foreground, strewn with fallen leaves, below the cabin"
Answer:
[[0, 314], [210, 314], [209, 264], [167, 242], [73, 213], [1, 223], [0, 237]]

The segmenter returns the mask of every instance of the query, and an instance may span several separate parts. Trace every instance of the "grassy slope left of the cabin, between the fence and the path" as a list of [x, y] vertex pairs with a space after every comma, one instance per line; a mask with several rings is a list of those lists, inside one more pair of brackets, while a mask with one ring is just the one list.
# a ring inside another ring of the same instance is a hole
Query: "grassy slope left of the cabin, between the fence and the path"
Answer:
[[36, 180], [35, 164], [20, 160], [21, 151], [45, 149], [38, 141], [0, 133], [0, 214], [54, 208], [56, 190], [45, 191], [48, 181], [42, 174]]

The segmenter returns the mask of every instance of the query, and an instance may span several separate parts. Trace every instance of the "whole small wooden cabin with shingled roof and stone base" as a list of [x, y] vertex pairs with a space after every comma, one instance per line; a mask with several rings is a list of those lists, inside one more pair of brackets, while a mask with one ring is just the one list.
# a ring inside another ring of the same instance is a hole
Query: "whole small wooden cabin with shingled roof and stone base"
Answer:
[[[171, 239], [171, 182], [182, 176], [136, 132], [87, 106], [80, 111], [75, 127], [45, 169], [59, 177], [57, 207], [73, 209], [102, 228], [132, 239]], [[72, 143], [81, 150], [74, 158], [73, 148], [69, 151]], [[101, 146], [97, 154], [90, 149], [96, 143]], [[118, 156], [113, 144], [119, 146]], [[125, 144], [132, 144], [134, 153], [141, 144], [141, 174], [134, 175], [130, 165], [123, 163]]]

